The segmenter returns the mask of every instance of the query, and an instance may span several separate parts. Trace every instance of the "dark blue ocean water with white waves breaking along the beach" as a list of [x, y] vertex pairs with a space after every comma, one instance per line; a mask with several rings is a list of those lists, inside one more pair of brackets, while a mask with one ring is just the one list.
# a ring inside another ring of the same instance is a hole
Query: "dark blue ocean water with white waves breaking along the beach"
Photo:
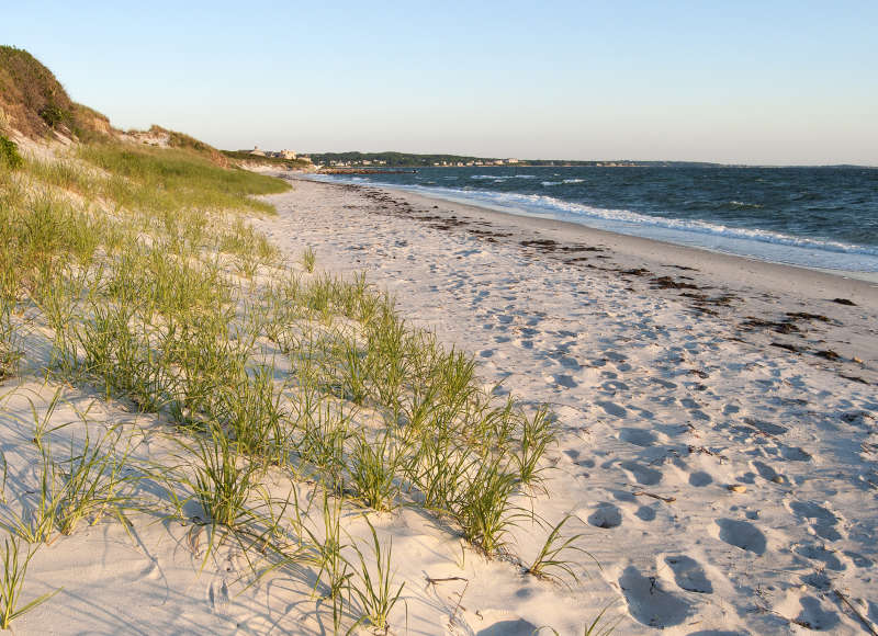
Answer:
[[474, 167], [317, 175], [847, 272], [878, 272], [878, 168]]

